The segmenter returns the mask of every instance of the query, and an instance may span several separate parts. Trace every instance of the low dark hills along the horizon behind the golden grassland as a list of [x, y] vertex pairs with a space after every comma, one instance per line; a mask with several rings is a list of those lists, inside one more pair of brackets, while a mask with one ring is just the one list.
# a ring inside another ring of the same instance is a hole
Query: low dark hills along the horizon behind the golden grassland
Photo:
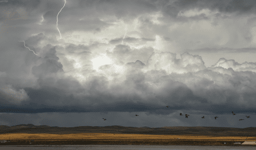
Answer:
[[148, 135], [203, 135], [203, 136], [255, 136], [256, 128], [227, 127], [50, 127], [33, 124], [16, 126], [0, 126], [0, 134], [80, 134], [80, 133], [111, 133], [111, 134], [148, 134]]

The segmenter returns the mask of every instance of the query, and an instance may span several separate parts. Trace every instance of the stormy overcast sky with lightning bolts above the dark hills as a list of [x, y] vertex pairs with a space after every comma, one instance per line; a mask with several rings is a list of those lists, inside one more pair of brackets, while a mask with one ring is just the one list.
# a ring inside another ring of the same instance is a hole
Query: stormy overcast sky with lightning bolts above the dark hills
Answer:
[[253, 127], [255, 7], [0, 1], [0, 124]]

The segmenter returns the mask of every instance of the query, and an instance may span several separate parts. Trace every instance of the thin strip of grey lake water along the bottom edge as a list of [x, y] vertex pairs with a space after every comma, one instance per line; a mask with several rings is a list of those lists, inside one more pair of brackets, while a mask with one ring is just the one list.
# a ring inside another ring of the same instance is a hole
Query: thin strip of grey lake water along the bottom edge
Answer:
[[256, 147], [223, 147], [223, 146], [183, 146], [183, 145], [39, 145], [39, 146], [0, 146], [1, 150], [41, 150], [41, 149], [93, 149], [93, 150], [112, 150], [112, 149], [125, 149], [125, 150], [142, 150], [142, 149], [155, 149], [155, 150], [224, 150], [224, 149], [256, 149]]

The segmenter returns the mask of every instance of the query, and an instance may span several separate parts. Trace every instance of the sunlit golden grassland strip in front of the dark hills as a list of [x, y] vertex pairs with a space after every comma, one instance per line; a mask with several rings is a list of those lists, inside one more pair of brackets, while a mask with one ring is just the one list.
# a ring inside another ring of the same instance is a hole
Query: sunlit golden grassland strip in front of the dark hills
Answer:
[[[179, 138], [179, 139], [177, 139]], [[170, 139], [170, 140], [225, 140], [245, 141], [245, 136], [189, 136], [189, 135], [143, 135], [143, 134], [2, 134], [0, 140], [93, 140], [93, 139]], [[255, 141], [256, 137], [248, 137], [247, 141]]]

